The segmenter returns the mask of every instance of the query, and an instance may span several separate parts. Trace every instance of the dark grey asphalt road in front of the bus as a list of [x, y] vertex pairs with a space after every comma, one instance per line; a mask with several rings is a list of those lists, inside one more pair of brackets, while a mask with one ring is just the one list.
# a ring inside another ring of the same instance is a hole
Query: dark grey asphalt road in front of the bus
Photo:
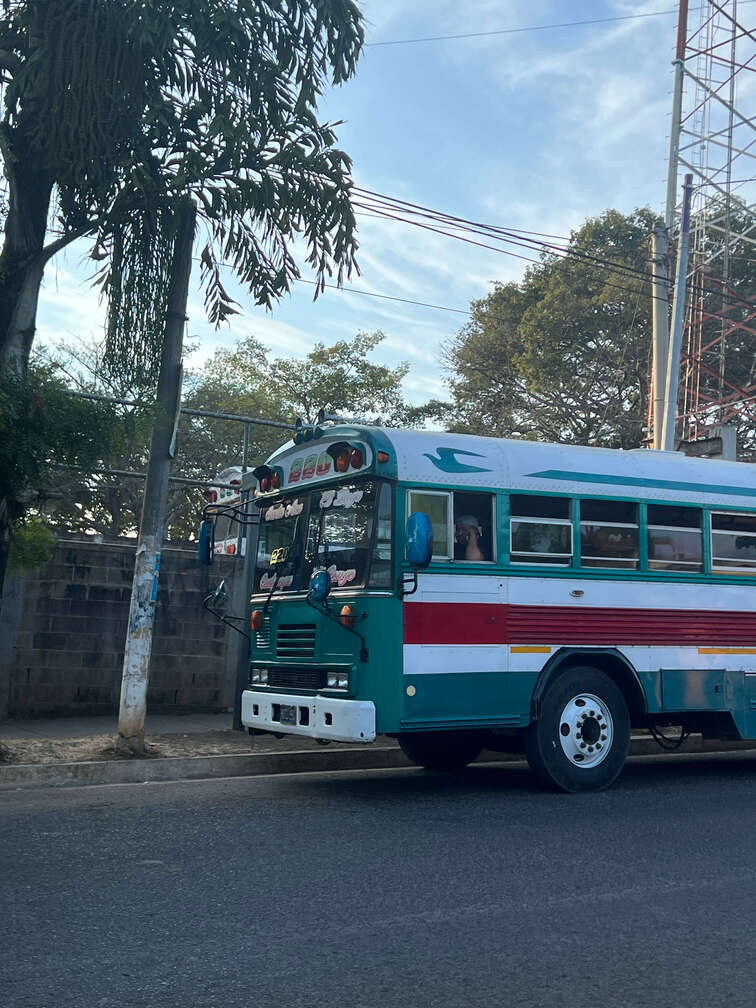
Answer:
[[756, 1004], [756, 753], [0, 795], [0, 1004]]

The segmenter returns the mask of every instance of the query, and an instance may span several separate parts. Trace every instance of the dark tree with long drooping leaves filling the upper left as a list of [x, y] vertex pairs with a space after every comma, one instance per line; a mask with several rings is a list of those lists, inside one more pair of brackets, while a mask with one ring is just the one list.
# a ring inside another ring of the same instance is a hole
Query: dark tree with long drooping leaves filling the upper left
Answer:
[[26, 376], [44, 266], [83, 236], [111, 365], [154, 379], [187, 194], [216, 323], [236, 310], [222, 262], [264, 305], [299, 275], [294, 245], [321, 282], [349, 273], [351, 163], [316, 106], [363, 37], [352, 0], [3, 0], [0, 382]]

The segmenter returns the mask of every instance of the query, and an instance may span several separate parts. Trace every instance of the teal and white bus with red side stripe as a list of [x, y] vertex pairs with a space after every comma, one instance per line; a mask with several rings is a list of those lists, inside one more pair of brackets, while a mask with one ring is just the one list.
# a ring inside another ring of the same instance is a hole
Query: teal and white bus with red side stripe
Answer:
[[569, 791], [632, 728], [756, 739], [756, 467], [324, 423], [254, 474], [249, 729]]

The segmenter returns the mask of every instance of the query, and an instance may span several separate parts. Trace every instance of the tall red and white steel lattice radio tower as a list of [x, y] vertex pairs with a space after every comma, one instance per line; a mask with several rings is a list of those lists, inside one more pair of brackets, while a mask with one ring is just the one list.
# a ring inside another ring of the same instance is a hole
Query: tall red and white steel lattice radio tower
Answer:
[[680, 0], [665, 224], [691, 172], [677, 437], [734, 424], [756, 458], [756, 5]]

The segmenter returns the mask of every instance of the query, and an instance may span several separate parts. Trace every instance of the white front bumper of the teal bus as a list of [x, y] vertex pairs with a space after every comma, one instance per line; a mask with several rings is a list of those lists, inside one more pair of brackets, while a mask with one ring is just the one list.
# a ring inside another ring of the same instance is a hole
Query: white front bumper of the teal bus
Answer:
[[[295, 723], [281, 720], [282, 707], [295, 708]], [[332, 742], [375, 742], [375, 704], [366, 700], [245, 689], [242, 724], [245, 728]]]

